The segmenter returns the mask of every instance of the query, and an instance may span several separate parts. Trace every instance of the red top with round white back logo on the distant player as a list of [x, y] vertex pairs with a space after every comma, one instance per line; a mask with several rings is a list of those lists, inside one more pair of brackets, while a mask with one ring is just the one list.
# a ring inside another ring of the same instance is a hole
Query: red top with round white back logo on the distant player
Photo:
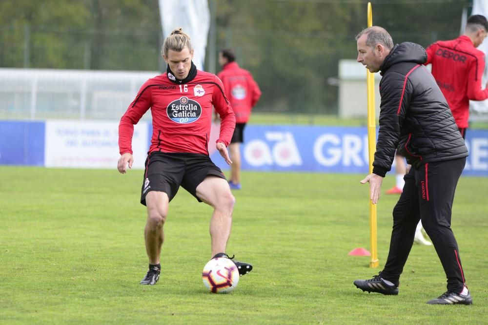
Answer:
[[261, 97], [261, 90], [251, 73], [239, 67], [237, 62], [224, 65], [217, 76], [224, 83], [225, 95], [236, 114], [237, 123], [246, 123], [252, 108]]

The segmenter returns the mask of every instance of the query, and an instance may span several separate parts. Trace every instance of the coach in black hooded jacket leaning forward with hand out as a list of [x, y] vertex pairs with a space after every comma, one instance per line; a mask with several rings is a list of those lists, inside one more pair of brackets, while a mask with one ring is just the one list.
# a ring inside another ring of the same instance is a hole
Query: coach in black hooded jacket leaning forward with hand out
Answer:
[[447, 101], [433, 76], [422, 65], [424, 48], [414, 43], [393, 46], [385, 29], [373, 26], [357, 37], [358, 62], [381, 71], [380, 129], [370, 198], [378, 202], [381, 184], [391, 169], [395, 150], [412, 165], [403, 193], [393, 209], [390, 249], [384, 269], [369, 280], [356, 280], [368, 292], [398, 294], [400, 274], [413, 245], [419, 219], [437, 251], [447, 276], [447, 292], [427, 304], [472, 304], [465, 284], [459, 249], [450, 228], [456, 185], [466, 164], [468, 149]]

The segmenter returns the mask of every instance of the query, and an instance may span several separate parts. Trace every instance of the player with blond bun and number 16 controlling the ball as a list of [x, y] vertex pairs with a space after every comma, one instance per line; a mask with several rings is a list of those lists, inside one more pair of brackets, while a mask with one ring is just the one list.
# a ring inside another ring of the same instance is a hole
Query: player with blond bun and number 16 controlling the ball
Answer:
[[[166, 73], [147, 80], [121, 118], [118, 170], [132, 167], [131, 149], [134, 124], [151, 109], [153, 134], [145, 162], [141, 203], [147, 207], [144, 229], [149, 270], [142, 285], [154, 285], [161, 273], [163, 225], [168, 205], [182, 186], [200, 202], [214, 208], [210, 221], [213, 257], [227, 257], [225, 248], [230, 235], [235, 198], [225, 176], [208, 156], [212, 105], [222, 116], [216, 148], [228, 164], [227, 145], [234, 131], [235, 115], [224, 95], [220, 79], [197, 70], [192, 62], [193, 47], [182, 29], [174, 30], [164, 40]], [[234, 261], [241, 275], [252, 266]]]

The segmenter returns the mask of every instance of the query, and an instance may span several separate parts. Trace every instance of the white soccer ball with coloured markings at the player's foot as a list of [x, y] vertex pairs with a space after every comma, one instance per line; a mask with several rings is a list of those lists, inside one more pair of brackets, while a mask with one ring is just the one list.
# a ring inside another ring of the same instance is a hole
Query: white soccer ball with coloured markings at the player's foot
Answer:
[[239, 270], [234, 262], [225, 257], [216, 257], [203, 267], [203, 284], [213, 293], [227, 293], [239, 283]]

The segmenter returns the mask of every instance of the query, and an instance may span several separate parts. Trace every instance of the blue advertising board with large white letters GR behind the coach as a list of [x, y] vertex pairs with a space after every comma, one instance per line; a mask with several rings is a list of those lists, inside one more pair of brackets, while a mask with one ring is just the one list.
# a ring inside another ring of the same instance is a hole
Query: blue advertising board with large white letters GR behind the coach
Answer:
[[[243, 170], [368, 172], [366, 127], [248, 125], [244, 141]], [[469, 156], [463, 174], [488, 176], [488, 131], [468, 130], [466, 143]], [[211, 158], [228, 169], [218, 152]]]

